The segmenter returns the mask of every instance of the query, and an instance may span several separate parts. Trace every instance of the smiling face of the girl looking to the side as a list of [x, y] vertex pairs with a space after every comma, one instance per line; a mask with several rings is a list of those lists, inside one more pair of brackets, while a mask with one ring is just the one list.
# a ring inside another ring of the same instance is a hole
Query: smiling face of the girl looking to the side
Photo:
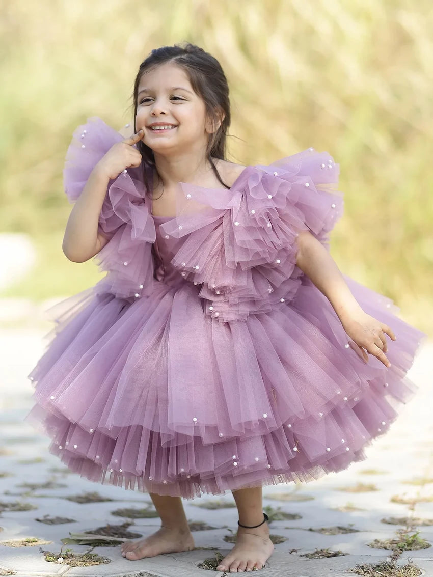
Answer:
[[[152, 124], [170, 128], [152, 129]], [[136, 131], [143, 142], [163, 155], [206, 147], [211, 123], [206, 122], [204, 102], [192, 89], [182, 68], [166, 63], [143, 74], [137, 96]]]

